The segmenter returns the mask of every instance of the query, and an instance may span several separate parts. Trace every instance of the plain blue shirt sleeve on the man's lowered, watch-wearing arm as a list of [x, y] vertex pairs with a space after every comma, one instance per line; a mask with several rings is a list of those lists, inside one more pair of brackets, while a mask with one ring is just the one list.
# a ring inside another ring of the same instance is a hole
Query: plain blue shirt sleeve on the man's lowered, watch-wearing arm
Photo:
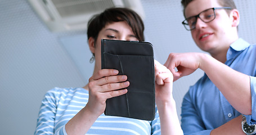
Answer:
[[183, 133], [190, 135], [210, 134], [212, 130], [206, 130], [203, 121], [197, 114], [195, 106], [192, 104], [189, 93], [187, 92], [182, 101], [181, 108], [181, 128]]

